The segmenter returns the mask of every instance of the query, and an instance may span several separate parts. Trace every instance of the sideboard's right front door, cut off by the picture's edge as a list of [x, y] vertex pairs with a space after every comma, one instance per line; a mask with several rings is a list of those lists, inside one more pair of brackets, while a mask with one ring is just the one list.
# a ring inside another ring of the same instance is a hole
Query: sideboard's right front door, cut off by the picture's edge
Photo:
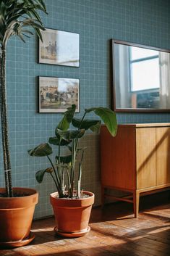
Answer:
[[156, 128], [157, 185], [170, 183], [170, 128]]

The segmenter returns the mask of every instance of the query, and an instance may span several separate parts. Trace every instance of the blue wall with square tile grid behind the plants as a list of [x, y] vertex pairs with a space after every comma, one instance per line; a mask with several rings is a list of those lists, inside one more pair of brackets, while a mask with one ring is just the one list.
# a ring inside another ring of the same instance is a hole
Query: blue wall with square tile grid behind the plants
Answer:
[[[46, 159], [29, 157], [27, 149], [53, 136], [60, 114], [37, 113], [38, 75], [80, 78], [80, 108], [110, 106], [109, 39], [170, 49], [169, 0], [46, 0], [46, 28], [80, 33], [80, 67], [37, 63], [35, 37], [23, 44], [16, 38], [7, 49], [7, 93], [10, 146], [14, 186], [30, 186], [40, 191], [35, 217], [51, 214], [48, 194], [51, 180], [39, 185], [35, 170], [47, 165]], [[80, 114], [81, 115], [81, 114]], [[169, 122], [169, 114], [117, 115], [119, 123]], [[89, 156], [90, 157], [90, 156]], [[2, 157], [1, 157], [2, 162]], [[3, 169], [1, 167], [1, 169]], [[0, 174], [0, 185], [4, 176]]]

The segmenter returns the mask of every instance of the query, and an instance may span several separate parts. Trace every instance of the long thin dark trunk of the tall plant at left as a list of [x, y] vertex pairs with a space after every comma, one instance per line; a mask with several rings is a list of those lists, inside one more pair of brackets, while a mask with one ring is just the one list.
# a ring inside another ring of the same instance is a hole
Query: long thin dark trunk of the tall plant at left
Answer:
[[1, 110], [1, 140], [4, 156], [4, 177], [7, 197], [12, 197], [12, 176], [11, 176], [11, 162], [9, 154], [9, 129], [7, 120], [7, 92], [6, 92], [6, 49], [1, 47], [1, 84], [0, 84], [0, 110]]

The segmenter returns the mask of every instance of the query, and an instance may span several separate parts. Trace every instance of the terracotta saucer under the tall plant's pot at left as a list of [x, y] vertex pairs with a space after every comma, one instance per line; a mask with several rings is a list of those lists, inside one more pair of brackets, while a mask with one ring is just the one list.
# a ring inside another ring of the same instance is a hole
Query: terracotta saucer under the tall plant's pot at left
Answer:
[[15, 248], [15, 247], [22, 247], [26, 244], [29, 244], [31, 241], [35, 239], [35, 234], [30, 232], [29, 236], [27, 236], [23, 240], [18, 240], [18, 241], [0, 241], [0, 248]]

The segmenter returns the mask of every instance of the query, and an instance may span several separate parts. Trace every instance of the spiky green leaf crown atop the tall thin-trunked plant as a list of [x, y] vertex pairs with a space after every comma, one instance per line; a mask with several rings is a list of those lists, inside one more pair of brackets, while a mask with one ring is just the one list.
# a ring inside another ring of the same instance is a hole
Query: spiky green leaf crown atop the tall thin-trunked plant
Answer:
[[17, 36], [25, 42], [25, 37], [33, 34], [27, 28], [33, 28], [42, 40], [41, 30], [45, 30], [38, 14], [46, 12], [42, 0], [1, 0], [0, 1], [0, 44], [4, 48], [11, 36]]

